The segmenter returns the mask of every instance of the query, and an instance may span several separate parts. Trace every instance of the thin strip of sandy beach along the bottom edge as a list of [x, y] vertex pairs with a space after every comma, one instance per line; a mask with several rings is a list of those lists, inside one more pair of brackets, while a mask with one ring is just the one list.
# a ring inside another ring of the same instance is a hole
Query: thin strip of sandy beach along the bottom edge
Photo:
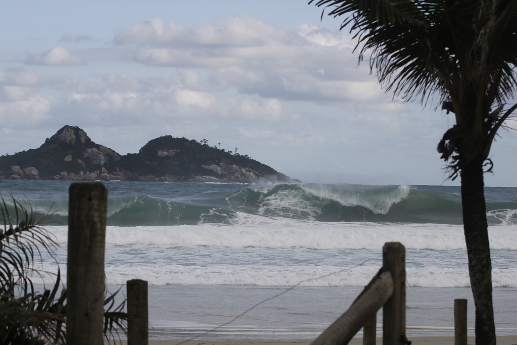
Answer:
[[[438, 344], [454, 344], [454, 337], [412, 337], [409, 338], [412, 345], [438, 345]], [[185, 345], [309, 345], [312, 340], [254, 340], [254, 339], [227, 339], [227, 340], [189, 340]], [[176, 345], [182, 343], [183, 340], [149, 340], [149, 345]], [[117, 342], [119, 343], [119, 342]], [[122, 340], [123, 345], [127, 344], [126, 340]], [[382, 344], [382, 338], [377, 338], [377, 344]], [[474, 345], [474, 337], [468, 337], [468, 344]], [[362, 338], [354, 338], [349, 344], [362, 344]], [[499, 345], [515, 345], [517, 344], [517, 335], [497, 337]]]

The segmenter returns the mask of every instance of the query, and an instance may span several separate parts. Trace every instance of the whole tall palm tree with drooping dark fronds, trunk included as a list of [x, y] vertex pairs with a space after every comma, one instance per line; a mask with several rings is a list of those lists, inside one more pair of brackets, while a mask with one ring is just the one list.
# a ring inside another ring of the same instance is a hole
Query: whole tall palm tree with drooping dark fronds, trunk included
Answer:
[[[476, 343], [495, 344], [492, 264], [483, 173], [490, 148], [517, 109], [517, 1], [309, 0], [343, 16], [341, 29], [358, 39], [359, 60], [386, 91], [427, 104], [438, 96], [455, 124], [438, 143], [449, 178], [461, 177], [463, 225], [476, 307]], [[323, 16], [323, 13], [322, 13]]]

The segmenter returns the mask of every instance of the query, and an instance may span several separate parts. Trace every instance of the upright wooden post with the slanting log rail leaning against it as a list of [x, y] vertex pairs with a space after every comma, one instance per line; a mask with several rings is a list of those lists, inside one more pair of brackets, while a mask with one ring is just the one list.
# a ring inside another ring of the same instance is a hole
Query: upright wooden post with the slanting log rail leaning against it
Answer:
[[387, 242], [383, 247], [383, 271], [393, 279], [393, 294], [383, 307], [383, 345], [407, 342], [405, 251], [399, 242]]

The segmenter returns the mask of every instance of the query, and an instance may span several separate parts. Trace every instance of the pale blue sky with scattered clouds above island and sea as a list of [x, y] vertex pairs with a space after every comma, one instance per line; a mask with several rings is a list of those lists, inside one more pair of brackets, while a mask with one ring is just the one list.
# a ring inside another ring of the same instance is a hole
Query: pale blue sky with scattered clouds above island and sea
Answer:
[[[2, 7], [1, 155], [71, 125], [121, 155], [171, 135], [303, 182], [459, 185], [436, 152], [453, 114], [385, 93], [342, 20], [307, 1]], [[517, 132], [500, 134], [485, 185], [517, 187]]]

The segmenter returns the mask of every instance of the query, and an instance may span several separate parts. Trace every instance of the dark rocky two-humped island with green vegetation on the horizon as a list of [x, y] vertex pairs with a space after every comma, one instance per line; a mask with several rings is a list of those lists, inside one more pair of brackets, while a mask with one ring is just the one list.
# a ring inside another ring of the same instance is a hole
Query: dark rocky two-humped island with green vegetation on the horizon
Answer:
[[119, 155], [93, 142], [79, 127], [65, 126], [39, 147], [0, 157], [0, 179], [146, 182], [291, 182], [248, 155], [186, 138], [164, 136], [139, 153]]

